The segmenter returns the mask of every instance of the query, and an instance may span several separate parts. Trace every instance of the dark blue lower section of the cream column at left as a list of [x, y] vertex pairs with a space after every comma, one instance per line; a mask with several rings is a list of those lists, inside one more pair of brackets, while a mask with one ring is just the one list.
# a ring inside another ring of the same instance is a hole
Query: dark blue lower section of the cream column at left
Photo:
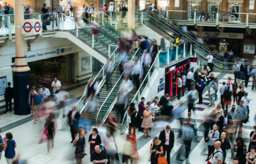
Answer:
[[13, 73], [14, 114], [27, 115], [31, 113], [29, 104], [29, 72]]

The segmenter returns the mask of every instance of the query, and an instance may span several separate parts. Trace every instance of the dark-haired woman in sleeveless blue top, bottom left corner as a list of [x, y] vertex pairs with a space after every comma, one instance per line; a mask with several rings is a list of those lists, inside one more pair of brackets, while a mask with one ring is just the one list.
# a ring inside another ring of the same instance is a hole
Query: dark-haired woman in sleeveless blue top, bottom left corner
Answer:
[[10, 132], [6, 133], [5, 145], [3, 146], [3, 151], [5, 151], [5, 159], [7, 164], [12, 164], [15, 157], [15, 148], [17, 147], [16, 142], [13, 139], [13, 134]]

